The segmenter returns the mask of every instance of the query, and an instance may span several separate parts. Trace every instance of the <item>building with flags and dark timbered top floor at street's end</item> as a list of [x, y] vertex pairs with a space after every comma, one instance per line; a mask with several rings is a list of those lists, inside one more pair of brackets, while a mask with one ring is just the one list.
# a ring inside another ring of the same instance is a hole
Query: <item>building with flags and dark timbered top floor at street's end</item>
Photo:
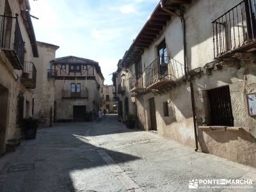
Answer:
[[104, 77], [99, 63], [67, 56], [50, 62], [54, 79], [54, 121], [83, 121], [86, 113], [102, 108]]

